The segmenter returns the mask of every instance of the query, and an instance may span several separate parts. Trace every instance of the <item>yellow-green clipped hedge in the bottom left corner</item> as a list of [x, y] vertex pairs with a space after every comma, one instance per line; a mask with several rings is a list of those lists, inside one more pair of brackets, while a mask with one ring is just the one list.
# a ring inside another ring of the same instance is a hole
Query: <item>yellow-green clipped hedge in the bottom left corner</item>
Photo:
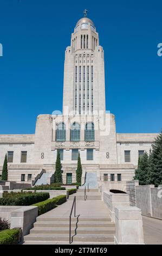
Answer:
[[21, 229], [5, 229], [0, 232], [0, 245], [17, 245]]

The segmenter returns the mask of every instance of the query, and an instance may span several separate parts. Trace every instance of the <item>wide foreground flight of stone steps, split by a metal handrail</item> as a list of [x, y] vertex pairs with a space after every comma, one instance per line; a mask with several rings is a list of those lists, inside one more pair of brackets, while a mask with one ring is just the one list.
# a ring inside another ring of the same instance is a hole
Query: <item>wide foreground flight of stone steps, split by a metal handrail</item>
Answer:
[[[114, 234], [115, 225], [110, 218], [72, 218], [74, 244], [110, 244], [114, 243]], [[43, 243], [69, 244], [69, 217], [37, 217], [30, 234], [24, 236], [24, 245]]]

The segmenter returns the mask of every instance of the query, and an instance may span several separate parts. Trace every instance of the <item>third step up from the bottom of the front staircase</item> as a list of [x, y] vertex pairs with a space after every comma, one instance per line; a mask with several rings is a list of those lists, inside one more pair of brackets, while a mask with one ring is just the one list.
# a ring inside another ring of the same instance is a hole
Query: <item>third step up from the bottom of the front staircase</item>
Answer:
[[[75, 233], [75, 229], [72, 229]], [[76, 234], [114, 234], [114, 227], [77, 227]], [[34, 227], [30, 230], [30, 234], [69, 234], [69, 227]]]

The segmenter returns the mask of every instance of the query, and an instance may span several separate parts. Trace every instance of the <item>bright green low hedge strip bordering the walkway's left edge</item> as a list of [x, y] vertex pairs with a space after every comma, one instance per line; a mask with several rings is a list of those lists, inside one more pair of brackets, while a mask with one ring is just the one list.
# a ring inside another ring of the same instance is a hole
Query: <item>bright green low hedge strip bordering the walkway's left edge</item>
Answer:
[[45, 212], [54, 209], [56, 205], [60, 205], [66, 202], [66, 196], [61, 195], [58, 197], [54, 197], [52, 199], [48, 199], [46, 201], [33, 204], [32, 206], [38, 207], [38, 215], [44, 214]]

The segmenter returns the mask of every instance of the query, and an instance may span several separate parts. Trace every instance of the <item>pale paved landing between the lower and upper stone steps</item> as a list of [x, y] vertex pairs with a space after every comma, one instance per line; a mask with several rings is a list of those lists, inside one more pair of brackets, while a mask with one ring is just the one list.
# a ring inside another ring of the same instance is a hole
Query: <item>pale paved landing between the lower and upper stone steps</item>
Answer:
[[[73, 201], [68, 201], [62, 205], [59, 205], [57, 208], [42, 214], [40, 217], [69, 217], [70, 211], [72, 209]], [[98, 201], [76, 201], [76, 215], [82, 217], [97, 217], [97, 218], [109, 218], [109, 210], [105, 203], [101, 200]], [[74, 209], [73, 215], [74, 216]], [[38, 217], [39, 218], [39, 217]]]

